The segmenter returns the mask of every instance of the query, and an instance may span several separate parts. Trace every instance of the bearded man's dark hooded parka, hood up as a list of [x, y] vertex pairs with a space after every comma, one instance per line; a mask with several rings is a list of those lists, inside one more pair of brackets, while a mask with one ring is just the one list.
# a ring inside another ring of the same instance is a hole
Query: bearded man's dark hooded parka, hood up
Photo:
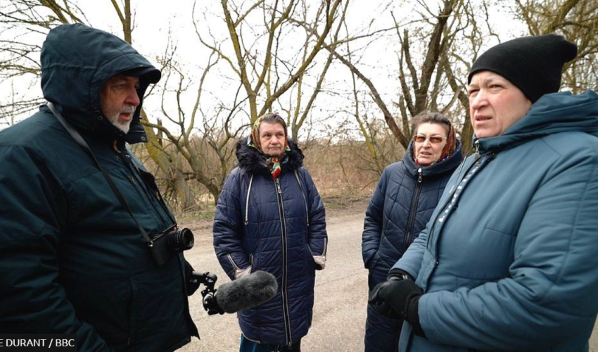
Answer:
[[[174, 217], [125, 147], [146, 140], [141, 104], [127, 135], [100, 108], [106, 80], [135, 68], [153, 66], [84, 25], [56, 27], [42, 48], [44, 97], [77, 127], [152, 237]], [[143, 76], [140, 85], [142, 100]], [[101, 171], [47, 106], [0, 132], [0, 333], [11, 332], [77, 334], [79, 351], [173, 351], [197, 336], [183, 256], [153, 263]]]

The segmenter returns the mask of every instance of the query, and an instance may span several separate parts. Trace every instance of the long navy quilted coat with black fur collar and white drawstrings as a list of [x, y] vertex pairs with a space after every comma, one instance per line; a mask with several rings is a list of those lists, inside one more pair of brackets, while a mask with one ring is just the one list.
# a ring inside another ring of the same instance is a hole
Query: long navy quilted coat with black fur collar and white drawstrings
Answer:
[[271, 301], [238, 313], [243, 335], [267, 344], [288, 345], [307, 334], [315, 270], [326, 256], [324, 204], [303, 153], [290, 145], [275, 182], [257, 150], [238, 142], [239, 166], [224, 181], [213, 226], [218, 260], [231, 279], [255, 270], [276, 277]]

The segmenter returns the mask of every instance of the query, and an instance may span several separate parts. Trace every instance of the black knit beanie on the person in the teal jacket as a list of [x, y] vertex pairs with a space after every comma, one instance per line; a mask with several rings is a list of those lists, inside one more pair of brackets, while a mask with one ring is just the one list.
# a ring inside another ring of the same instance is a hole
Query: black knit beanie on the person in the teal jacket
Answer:
[[507, 78], [535, 103], [540, 96], [559, 92], [561, 71], [577, 56], [577, 45], [556, 34], [523, 37], [492, 46], [469, 72], [467, 83], [480, 71]]

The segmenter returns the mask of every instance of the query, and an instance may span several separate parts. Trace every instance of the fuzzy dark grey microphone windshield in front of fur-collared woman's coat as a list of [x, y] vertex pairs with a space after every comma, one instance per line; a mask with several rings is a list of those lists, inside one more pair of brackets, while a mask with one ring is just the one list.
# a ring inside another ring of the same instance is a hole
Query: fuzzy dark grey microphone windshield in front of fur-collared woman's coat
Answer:
[[276, 291], [276, 277], [269, 272], [257, 270], [248, 276], [220, 285], [215, 298], [224, 312], [236, 313], [271, 300], [276, 296]]

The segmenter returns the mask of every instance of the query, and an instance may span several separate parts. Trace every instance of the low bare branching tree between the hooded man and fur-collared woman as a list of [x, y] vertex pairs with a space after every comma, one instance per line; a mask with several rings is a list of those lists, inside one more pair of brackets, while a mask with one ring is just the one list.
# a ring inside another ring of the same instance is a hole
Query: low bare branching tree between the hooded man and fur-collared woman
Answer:
[[[177, 170], [177, 172], [184, 175], [187, 180], [196, 180], [202, 184], [203, 187], [208, 189], [214, 202], [218, 199], [224, 177], [230, 169], [229, 161], [234, 151], [230, 142], [233, 142], [241, 130], [246, 127], [246, 125], [242, 125], [236, 130], [231, 128], [231, 122], [238, 113], [239, 106], [243, 103], [243, 100], [239, 99], [238, 93], [232, 106], [228, 107], [221, 103], [217, 107], [217, 111], [212, 114], [212, 118], [209, 118], [208, 113], [201, 109], [205, 79], [219, 60], [220, 56], [215, 52], [208, 58], [208, 64], [197, 83], [196, 98], [191, 107], [184, 106], [182, 96], [190, 94], [187, 91], [193, 81], [188, 79], [176, 64], [168, 61], [164, 69], [165, 82], [163, 87], [165, 89], [162, 91], [161, 109], [163, 116], [170, 121], [170, 125], [177, 126], [177, 132], [175, 133], [174, 130], [165, 127], [161, 123], [144, 122], [148, 127], [158, 130], [163, 136], [163, 138], [156, 136], [155, 142], [151, 143], [152, 148], [162, 151], [172, 162], [182, 158], [185, 161], [184, 168]], [[174, 103], [168, 101], [170, 96], [172, 96], [173, 99], [171, 100], [174, 100]], [[198, 127], [199, 125], [201, 127]], [[164, 143], [164, 141], [167, 141], [167, 143]], [[216, 162], [210, 161], [208, 157], [210, 153], [215, 154]], [[170, 174], [172, 175], [172, 172]], [[190, 200], [189, 197], [191, 196], [191, 194], [186, 194], [184, 199]], [[179, 200], [182, 200], [180, 194]], [[189, 205], [191, 203], [187, 204], [187, 206]]]

